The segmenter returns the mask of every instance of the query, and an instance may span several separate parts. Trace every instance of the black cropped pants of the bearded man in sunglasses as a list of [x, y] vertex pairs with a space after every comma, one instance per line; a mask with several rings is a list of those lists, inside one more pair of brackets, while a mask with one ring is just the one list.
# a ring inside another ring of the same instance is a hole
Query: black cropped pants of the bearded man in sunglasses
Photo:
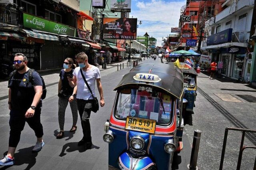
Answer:
[[43, 126], [40, 121], [41, 108], [36, 108], [34, 116], [30, 118], [25, 118], [26, 111], [10, 111], [10, 137], [9, 137], [9, 147], [16, 148], [20, 141], [21, 131], [24, 129], [25, 122], [28, 123], [30, 128], [32, 128], [36, 134], [37, 138], [43, 136]]

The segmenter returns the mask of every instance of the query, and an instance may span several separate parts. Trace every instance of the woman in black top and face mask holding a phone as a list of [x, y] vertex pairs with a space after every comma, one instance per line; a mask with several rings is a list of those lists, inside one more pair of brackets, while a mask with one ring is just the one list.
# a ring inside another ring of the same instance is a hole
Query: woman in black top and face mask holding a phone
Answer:
[[65, 122], [65, 111], [68, 106], [68, 102], [71, 108], [72, 117], [73, 117], [73, 125], [72, 128], [69, 130], [70, 132], [76, 131], [76, 123], [78, 119], [77, 113], [77, 104], [76, 104], [76, 91], [77, 88], [71, 87], [68, 83], [68, 77], [73, 77], [73, 71], [76, 68], [74, 65], [74, 61], [72, 58], [66, 58], [63, 63], [63, 68], [60, 71], [60, 80], [58, 84], [58, 119], [59, 119], [59, 126], [60, 132], [57, 135], [57, 139], [60, 139], [64, 135], [64, 122]]

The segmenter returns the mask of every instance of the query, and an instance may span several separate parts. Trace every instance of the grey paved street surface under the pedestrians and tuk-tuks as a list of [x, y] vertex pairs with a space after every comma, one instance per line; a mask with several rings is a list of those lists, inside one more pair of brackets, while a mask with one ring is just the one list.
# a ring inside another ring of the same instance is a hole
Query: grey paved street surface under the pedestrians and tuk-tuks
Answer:
[[[157, 58], [156, 61], [148, 59], [142, 62], [160, 62], [160, 58]], [[108, 165], [108, 144], [104, 143], [102, 140], [102, 136], [104, 134], [103, 127], [106, 119], [109, 119], [110, 112], [113, 107], [116, 95], [113, 89], [122, 79], [122, 76], [129, 70], [130, 69], [125, 67], [125, 69], [119, 71], [116, 71], [116, 68], [112, 68], [101, 72], [106, 105], [103, 108], [100, 108], [98, 113], [93, 113], [91, 116], [92, 142], [94, 144], [92, 149], [84, 150], [83, 148], [77, 147], [77, 142], [82, 138], [82, 130], [80, 122], [78, 121], [78, 130], [75, 133], [69, 132], [69, 129], [72, 127], [72, 116], [69, 106], [66, 109], [64, 138], [55, 138], [59, 130], [58, 97], [56, 94], [58, 85], [55, 84], [47, 87], [47, 97], [43, 101], [41, 120], [44, 127], [45, 146], [40, 152], [31, 153], [32, 147], [36, 142], [36, 138], [34, 136], [34, 132], [32, 132], [28, 125], [26, 125], [22, 131], [20, 143], [16, 150], [15, 166], [2, 167], [0, 169], [106, 170]], [[44, 76], [44, 79], [47, 82], [46, 84], [55, 83], [58, 81], [58, 78], [58, 73]], [[207, 75], [200, 73], [198, 76], [198, 87], [247, 127], [256, 129], [255, 103], [248, 103], [237, 96], [236, 98], [242, 102], [226, 102], [215, 95], [215, 93], [229, 93], [234, 96], [235, 94], [250, 94], [255, 96], [256, 90], [246, 87], [240, 83], [222, 80], [210, 80]], [[5, 84], [3, 82], [1, 83], [1, 88], [4, 88]], [[223, 91], [223, 88], [244, 89], [245, 91], [235, 91], [233, 93], [231, 90]], [[0, 94], [7, 95], [5, 93], [5, 91], [2, 91]], [[96, 93], [97, 96], [99, 96], [98, 92]], [[195, 114], [193, 115], [193, 126], [186, 125], [184, 128], [184, 150], [178, 154], [174, 169], [186, 169], [186, 164], [188, 164], [190, 160], [190, 150], [194, 130], [198, 129], [202, 130], [198, 166], [200, 170], [215, 170], [218, 169], [220, 163], [224, 129], [226, 127], [234, 127], [234, 125], [230, 123], [230, 121], [228, 121], [228, 119], [224, 117], [224, 115], [222, 115], [220, 111], [212, 105], [212, 103], [207, 101], [199, 91], [195, 104], [196, 107], [194, 108]], [[7, 99], [0, 100], [0, 109], [0, 153], [4, 155], [8, 149], [9, 136], [9, 111]], [[241, 133], [229, 132], [223, 169], [236, 169], [240, 138]], [[247, 138], [245, 139], [245, 144], [253, 145]], [[241, 170], [252, 169], [255, 155], [255, 150], [244, 151]]]

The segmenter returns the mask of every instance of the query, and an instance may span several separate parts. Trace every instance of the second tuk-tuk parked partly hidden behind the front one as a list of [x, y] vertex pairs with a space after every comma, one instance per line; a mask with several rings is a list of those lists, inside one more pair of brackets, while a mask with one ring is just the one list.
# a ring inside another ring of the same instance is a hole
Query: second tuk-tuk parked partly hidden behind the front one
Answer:
[[179, 68], [183, 74], [184, 81], [184, 95], [182, 105], [182, 117], [184, 119], [184, 125], [192, 125], [192, 114], [194, 114], [194, 107], [196, 101], [196, 76], [198, 74], [193, 68], [180, 63]]

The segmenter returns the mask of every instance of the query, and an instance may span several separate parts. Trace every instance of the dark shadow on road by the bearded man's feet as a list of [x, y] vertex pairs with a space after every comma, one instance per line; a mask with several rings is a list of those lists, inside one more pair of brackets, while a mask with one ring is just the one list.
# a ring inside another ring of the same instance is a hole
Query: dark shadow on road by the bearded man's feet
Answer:
[[[33, 147], [34, 146], [31, 146], [29, 148], [19, 149], [18, 152], [14, 154], [14, 158], [15, 158], [14, 165], [19, 166], [22, 164], [28, 164], [25, 170], [30, 170], [36, 164], [36, 156], [38, 155], [38, 152], [32, 152]], [[7, 154], [7, 151], [4, 152], [4, 155], [6, 154]], [[9, 167], [10, 166], [3, 166], [0, 168], [0, 170], [5, 170]]]

